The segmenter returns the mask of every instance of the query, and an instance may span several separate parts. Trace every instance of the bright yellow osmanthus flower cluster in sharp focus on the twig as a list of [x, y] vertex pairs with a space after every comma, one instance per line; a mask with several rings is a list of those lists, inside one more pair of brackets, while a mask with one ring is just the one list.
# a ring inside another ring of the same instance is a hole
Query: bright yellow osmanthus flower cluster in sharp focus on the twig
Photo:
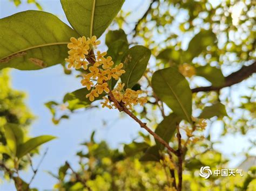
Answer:
[[[107, 94], [110, 92], [107, 81], [112, 79], [119, 80], [119, 77], [125, 73], [123, 63], [114, 65], [111, 56], [106, 56], [106, 52], [97, 51], [96, 55], [91, 55], [92, 49], [96, 49], [100, 44], [96, 36], [92, 38], [80, 37], [78, 39], [71, 38], [71, 43], [68, 44], [70, 49], [69, 57], [65, 61], [69, 62], [68, 68], [83, 68], [85, 73], [82, 74], [83, 79], [81, 83], [83, 86], [90, 90], [90, 93], [86, 95], [92, 102], [95, 97], [99, 97], [104, 92]], [[91, 62], [87, 60], [93, 60]], [[130, 88], [124, 90], [125, 84], [118, 83], [116, 88], [112, 90], [112, 93], [118, 102], [123, 102], [127, 108], [131, 108], [132, 105], [140, 104], [143, 105], [147, 102], [146, 97], [140, 96], [143, 94], [142, 90], [134, 91]], [[105, 100], [102, 103], [102, 107], [112, 109], [116, 106], [112, 103], [107, 96], [104, 96]]]

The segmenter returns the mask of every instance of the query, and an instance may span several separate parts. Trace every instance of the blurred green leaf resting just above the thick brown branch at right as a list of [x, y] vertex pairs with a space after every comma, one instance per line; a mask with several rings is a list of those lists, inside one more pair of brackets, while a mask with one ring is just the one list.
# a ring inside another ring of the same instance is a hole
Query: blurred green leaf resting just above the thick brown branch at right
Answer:
[[212, 66], [200, 66], [196, 68], [196, 75], [204, 77], [212, 83], [212, 86], [223, 86], [225, 77], [221, 69]]

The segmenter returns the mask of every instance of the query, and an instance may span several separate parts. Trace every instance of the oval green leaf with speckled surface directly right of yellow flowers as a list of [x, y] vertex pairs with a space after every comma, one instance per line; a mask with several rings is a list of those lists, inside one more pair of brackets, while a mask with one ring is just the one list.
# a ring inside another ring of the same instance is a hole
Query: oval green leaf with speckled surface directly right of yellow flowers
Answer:
[[121, 76], [121, 80], [126, 88], [132, 88], [143, 76], [150, 56], [150, 49], [144, 46], [133, 46], [124, 54], [122, 63], [125, 73]]

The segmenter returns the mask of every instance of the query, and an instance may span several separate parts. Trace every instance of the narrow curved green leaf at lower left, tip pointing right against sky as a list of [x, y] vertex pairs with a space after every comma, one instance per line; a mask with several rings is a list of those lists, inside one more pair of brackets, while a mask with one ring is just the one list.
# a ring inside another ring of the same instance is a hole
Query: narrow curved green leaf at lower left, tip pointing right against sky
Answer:
[[35, 138], [29, 139], [27, 142], [19, 145], [17, 150], [17, 157], [22, 158], [24, 155], [28, 154], [30, 151], [34, 150], [36, 147], [49, 142], [52, 139], [55, 139], [56, 137], [44, 135], [39, 136]]

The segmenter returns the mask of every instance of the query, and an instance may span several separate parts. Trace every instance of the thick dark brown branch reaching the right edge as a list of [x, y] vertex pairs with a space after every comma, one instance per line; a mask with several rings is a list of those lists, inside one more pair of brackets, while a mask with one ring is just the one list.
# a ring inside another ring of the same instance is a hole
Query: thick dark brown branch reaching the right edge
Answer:
[[214, 87], [214, 86], [207, 86], [207, 87], [199, 87], [192, 89], [192, 93], [197, 93], [199, 91], [218, 91], [221, 88], [230, 87], [234, 84], [240, 83], [241, 81], [250, 77], [253, 73], [256, 73], [256, 61], [254, 61], [249, 66], [243, 66], [237, 72], [234, 72], [227, 77], [225, 77], [225, 83], [223, 86]]

